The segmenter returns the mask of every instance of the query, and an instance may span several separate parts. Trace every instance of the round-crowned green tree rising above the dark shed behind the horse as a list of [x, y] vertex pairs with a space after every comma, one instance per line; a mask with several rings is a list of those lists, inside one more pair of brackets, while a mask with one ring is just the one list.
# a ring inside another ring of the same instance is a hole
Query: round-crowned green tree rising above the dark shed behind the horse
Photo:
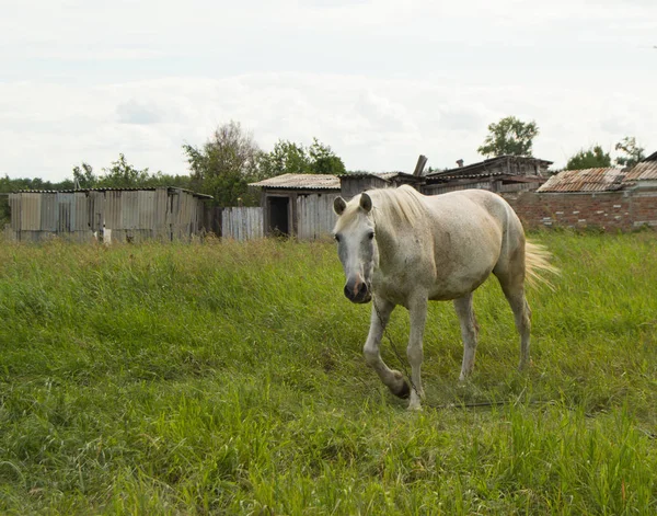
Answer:
[[491, 124], [488, 131], [484, 145], [477, 149], [480, 154], [486, 158], [504, 154], [531, 157], [531, 146], [539, 128], [533, 121], [525, 123], [507, 116], [497, 124]]

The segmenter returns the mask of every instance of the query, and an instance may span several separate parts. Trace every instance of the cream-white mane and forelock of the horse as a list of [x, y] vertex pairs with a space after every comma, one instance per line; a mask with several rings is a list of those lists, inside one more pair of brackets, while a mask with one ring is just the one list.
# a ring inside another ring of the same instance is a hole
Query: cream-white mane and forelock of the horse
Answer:
[[[422, 194], [408, 185], [399, 188], [369, 190], [372, 199], [374, 223], [399, 229], [406, 225], [415, 226], [425, 214]], [[360, 196], [350, 202], [337, 220], [336, 231], [347, 226], [358, 215]]]

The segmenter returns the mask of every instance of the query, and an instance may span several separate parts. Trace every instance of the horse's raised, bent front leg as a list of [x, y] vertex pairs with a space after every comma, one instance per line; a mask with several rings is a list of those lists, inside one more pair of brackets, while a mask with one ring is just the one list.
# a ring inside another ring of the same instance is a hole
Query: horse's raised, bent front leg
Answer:
[[390, 314], [394, 310], [394, 303], [387, 301], [380, 297], [374, 297], [372, 302], [372, 314], [370, 318], [370, 330], [367, 335], [362, 354], [365, 362], [377, 371], [381, 381], [390, 389], [390, 391], [400, 398], [408, 398], [408, 383], [404, 380], [400, 371], [390, 369], [381, 358], [381, 337], [385, 324], [390, 320]]

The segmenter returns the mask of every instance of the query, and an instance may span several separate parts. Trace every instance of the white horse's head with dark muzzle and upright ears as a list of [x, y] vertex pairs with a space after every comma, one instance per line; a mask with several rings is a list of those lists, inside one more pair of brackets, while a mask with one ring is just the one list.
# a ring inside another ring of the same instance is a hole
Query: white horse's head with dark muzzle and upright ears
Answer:
[[337, 197], [333, 209], [338, 216], [333, 234], [347, 278], [345, 296], [351, 302], [368, 302], [372, 298], [372, 271], [379, 260], [374, 222], [370, 216], [372, 199], [366, 193], [349, 203]]

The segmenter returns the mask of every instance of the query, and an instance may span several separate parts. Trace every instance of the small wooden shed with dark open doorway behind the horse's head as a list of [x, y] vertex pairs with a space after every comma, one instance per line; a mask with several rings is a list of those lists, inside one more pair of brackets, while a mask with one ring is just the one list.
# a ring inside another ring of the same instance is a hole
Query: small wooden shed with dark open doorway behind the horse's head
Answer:
[[250, 186], [261, 188], [265, 234], [314, 240], [333, 229], [333, 200], [341, 188], [336, 175], [283, 174]]

